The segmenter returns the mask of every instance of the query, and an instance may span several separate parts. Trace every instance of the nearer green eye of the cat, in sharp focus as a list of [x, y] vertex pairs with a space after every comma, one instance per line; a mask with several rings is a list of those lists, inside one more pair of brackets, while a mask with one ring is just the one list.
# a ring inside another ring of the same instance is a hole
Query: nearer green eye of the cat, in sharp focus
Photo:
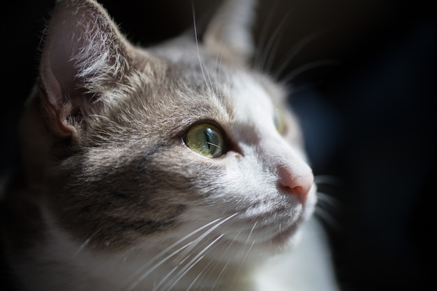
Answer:
[[192, 151], [207, 158], [218, 158], [223, 154], [223, 135], [212, 124], [196, 124], [188, 130], [184, 142]]

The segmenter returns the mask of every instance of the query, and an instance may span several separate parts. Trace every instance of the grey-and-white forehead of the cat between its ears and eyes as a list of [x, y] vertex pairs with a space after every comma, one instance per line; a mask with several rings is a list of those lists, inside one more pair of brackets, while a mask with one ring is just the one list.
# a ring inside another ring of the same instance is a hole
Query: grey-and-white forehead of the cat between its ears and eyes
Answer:
[[121, 91], [124, 97], [114, 98], [121, 103], [116, 101], [119, 105], [113, 108], [127, 120], [124, 123], [130, 124], [135, 113], [141, 124], [155, 128], [147, 132], [173, 136], [202, 121], [229, 130], [238, 124], [260, 124], [272, 119], [274, 107], [285, 100], [286, 91], [268, 76], [233, 66], [193, 40], [137, 49], [137, 73], [124, 87], [127, 91]]

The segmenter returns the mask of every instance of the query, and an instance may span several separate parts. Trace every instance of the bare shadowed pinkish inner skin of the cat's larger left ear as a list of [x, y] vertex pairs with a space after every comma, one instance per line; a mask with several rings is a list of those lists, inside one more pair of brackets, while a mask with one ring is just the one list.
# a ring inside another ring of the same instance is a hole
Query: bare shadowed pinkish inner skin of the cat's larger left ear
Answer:
[[[82, 13], [71, 11], [71, 6], [60, 3], [54, 10], [47, 33], [47, 40], [40, 64], [43, 107], [49, 119], [49, 126], [59, 135], [71, 135], [74, 128], [68, 124], [68, 116], [73, 109], [77, 89], [81, 84], [77, 80], [74, 48], [79, 47], [82, 38], [82, 25], [78, 17]], [[79, 12], [79, 10], [77, 10]], [[80, 99], [80, 98], [79, 98]]]

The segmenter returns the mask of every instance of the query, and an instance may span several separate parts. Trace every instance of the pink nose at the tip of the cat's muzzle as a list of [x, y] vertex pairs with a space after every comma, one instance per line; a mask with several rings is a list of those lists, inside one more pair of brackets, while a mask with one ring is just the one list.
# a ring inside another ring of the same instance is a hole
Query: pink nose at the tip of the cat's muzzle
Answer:
[[296, 195], [300, 202], [305, 203], [311, 186], [313, 186], [313, 172], [306, 170], [295, 174], [286, 167], [279, 167], [278, 174], [280, 188], [290, 195]]

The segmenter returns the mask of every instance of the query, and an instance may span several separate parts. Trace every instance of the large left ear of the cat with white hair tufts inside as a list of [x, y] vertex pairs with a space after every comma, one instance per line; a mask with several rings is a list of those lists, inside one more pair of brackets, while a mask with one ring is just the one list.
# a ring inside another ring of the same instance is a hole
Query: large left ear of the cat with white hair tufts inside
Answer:
[[92, 0], [58, 1], [40, 64], [40, 97], [57, 135], [77, 135], [78, 119], [128, 70], [128, 42]]

